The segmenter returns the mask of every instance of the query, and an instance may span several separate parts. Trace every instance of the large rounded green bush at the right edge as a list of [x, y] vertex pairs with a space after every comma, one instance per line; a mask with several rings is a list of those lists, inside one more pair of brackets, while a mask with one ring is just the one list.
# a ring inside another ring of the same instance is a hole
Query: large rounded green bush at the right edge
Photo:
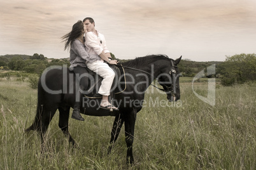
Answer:
[[242, 84], [247, 81], [256, 80], [256, 55], [245, 54], [227, 56], [225, 62], [218, 68], [224, 86]]

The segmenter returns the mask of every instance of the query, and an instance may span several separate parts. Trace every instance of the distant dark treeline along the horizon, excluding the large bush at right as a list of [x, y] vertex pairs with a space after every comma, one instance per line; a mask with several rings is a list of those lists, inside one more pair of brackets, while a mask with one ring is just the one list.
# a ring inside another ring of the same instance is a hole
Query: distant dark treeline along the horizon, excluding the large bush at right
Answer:
[[[120, 60], [115, 58], [115, 55], [111, 53], [112, 58], [117, 59], [120, 62], [127, 62], [129, 60]], [[181, 60], [179, 69], [182, 76], [194, 77], [198, 72], [206, 67], [219, 64], [222, 62], [192, 62], [189, 60]], [[27, 73], [40, 74], [43, 70], [51, 65], [70, 65], [69, 58], [62, 59], [48, 59], [44, 55], [38, 55], [35, 53], [32, 56], [29, 55], [4, 55], [0, 56], [0, 67], [6, 70], [20, 70]]]

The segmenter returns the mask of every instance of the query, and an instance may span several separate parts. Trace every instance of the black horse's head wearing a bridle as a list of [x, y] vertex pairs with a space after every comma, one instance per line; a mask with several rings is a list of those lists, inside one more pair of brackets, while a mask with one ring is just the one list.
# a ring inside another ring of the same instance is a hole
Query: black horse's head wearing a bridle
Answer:
[[167, 99], [169, 101], [180, 100], [180, 72], [178, 70], [178, 63], [180, 63], [180, 58], [176, 60], [169, 59], [169, 67], [164, 68], [162, 74], [157, 77], [157, 81], [164, 88], [164, 92], [167, 94]]

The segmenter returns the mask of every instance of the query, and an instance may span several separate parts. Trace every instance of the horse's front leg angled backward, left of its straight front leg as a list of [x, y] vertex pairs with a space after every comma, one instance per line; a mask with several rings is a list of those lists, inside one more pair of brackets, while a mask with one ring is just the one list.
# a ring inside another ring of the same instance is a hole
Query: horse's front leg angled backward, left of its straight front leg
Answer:
[[121, 114], [117, 115], [115, 117], [115, 121], [113, 123], [113, 128], [111, 131], [110, 147], [108, 147], [108, 154], [110, 154], [110, 152], [113, 148], [113, 144], [117, 140], [123, 124], [124, 124], [124, 119], [121, 118]]

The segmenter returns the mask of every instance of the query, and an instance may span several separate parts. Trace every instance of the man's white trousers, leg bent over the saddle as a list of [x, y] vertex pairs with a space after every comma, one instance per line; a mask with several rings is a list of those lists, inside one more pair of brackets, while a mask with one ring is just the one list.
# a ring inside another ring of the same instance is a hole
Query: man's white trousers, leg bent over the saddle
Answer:
[[99, 76], [103, 77], [101, 87], [99, 88], [99, 94], [103, 96], [109, 96], [110, 89], [115, 78], [115, 72], [110, 68], [110, 66], [108, 66], [107, 63], [102, 61], [96, 61], [92, 63], [87, 62], [87, 67], [93, 72], [96, 72], [96, 74]]

